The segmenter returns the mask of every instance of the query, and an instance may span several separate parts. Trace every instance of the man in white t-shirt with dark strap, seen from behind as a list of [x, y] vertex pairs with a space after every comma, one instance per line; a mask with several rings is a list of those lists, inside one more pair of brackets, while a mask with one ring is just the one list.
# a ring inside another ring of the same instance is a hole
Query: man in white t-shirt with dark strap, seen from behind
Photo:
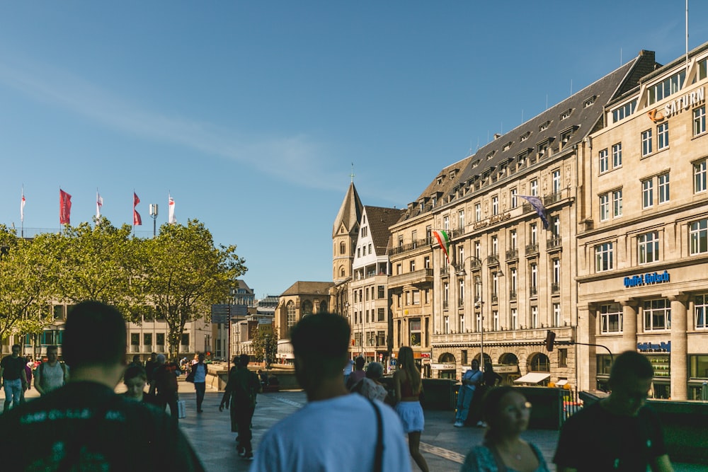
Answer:
[[349, 340], [349, 323], [330, 313], [292, 327], [295, 374], [308, 403], [265, 433], [251, 472], [375, 471], [377, 459], [378, 470], [411, 471], [398, 415], [344, 385]]

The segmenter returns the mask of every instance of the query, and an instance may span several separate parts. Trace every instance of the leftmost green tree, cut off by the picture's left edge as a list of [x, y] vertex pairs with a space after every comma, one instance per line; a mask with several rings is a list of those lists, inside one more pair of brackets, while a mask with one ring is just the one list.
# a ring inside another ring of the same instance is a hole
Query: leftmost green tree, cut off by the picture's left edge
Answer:
[[44, 236], [18, 238], [0, 225], [0, 338], [38, 333], [52, 321], [52, 260]]

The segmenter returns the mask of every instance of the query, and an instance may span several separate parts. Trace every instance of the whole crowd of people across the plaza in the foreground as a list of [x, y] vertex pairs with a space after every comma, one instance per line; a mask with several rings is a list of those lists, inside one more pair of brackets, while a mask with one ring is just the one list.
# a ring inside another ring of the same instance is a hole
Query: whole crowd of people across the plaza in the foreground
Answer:
[[[91, 335], [96, 332], [107, 334], [99, 340]], [[219, 411], [230, 410], [236, 449], [253, 461], [251, 471], [406, 472], [409, 456], [428, 471], [420, 450], [423, 381], [411, 347], [400, 348], [389, 390], [382, 382], [382, 364], [348, 359], [345, 318], [316, 313], [290, 333], [295, 376], [307, 404], [265, 432], [254, 451], [251, 422], [258, 393], [269, 379], [249, 369], [244, 354], [234, 357], [219, 405]], [[58, 360], [57, 346], [48, 347], [46, 361], [38, 364], [21, 357], [20, 346], [12, 347], [0, 361], [6, 394], [0, 442], [8, 450], [28, 442], [37, 446], [31, 455], [9, 455], [4, 462], [9, 470], [203, 470], [178, 427], [177, 376], [185, 363], [152, 353], [145, 364], [136, 356], [126, 366], [125, 341], [120, 312], [86, 301], [67, 320], [65, 363]], [[86, 349], [97, 354], [87, 358]], [[189, 370], [201, 413], [205, 356], [195, 356]], [[561, 430], [553, 458], [557, 471], [673, 471], [656, 414], [645, 406], [652, 377], [646, 357], [633, 351], [619, 355], [612, 364], [610, 395], [573, 415]], [[126, 391], [116, 395], [120, 379]], [[23, 393], [32, 381], [40, 398], [25, 402]], [[549, 471], [538, 447], [521, 437], [532, 405], [520, 389], [498, 386], [500, 381], [491, 364], [481, 372], [476, 359], [462, 374], [454, 426], [477, 425], [486, 433], [482, 444], [470, 445], [460, 470]]]

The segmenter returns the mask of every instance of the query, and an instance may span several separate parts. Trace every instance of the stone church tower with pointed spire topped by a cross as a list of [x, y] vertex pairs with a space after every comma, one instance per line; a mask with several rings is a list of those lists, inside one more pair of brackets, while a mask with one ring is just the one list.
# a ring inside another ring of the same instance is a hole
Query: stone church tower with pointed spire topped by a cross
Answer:
[[359, 236], [362, 209], [359, 194], [352, 181], [332, 229], [332, 280], [335, 284], [352, 276], [354, 248]]

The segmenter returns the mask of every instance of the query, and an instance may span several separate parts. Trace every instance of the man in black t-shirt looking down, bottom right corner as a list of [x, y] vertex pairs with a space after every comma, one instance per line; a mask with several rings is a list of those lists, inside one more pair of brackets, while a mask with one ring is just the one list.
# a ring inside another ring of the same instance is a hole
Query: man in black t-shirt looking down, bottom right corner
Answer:
[[554, 462], [559, 472], [671, 472], [656, 413], [644, 403], [653, 367], [636, 351], [622, 352], [610, 371], [610, 396], [571, 416]]

